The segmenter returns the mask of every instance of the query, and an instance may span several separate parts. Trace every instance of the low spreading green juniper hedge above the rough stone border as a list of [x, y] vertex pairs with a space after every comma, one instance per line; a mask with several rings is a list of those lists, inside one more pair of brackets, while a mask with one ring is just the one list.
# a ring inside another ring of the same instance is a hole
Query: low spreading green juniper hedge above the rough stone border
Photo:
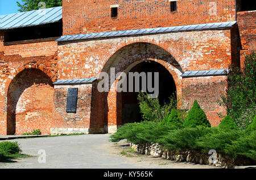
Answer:
[[142, 122], [123, 125], [110, 141], [127, 139], [134, 144], [160, 143], [164, 149], [199, 149], [209, 152], [228, 154], [236, 158], [246, 156], [256, 160], [256, 131], [237, 131], [219, 127], [179, 128], [154, 122]]

